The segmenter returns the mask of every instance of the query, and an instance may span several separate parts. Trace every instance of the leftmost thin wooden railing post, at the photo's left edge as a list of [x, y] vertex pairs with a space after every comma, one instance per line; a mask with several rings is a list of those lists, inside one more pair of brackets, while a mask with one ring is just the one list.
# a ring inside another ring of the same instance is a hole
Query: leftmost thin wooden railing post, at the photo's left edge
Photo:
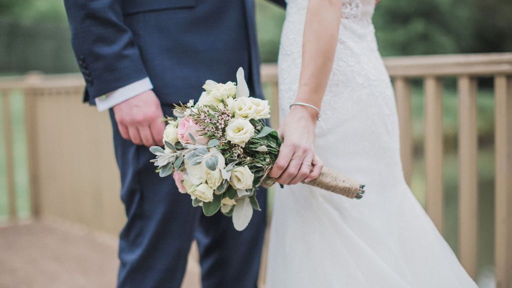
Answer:
[[11, 89], [0, 91], [3, 98], [3, 116], [4, 116], [4, 139], [5, 139], [5, 159], [7, 168], [7, 195], [9, 198], [9, 220], [14, 221], [17, 218], [16, 213], [16, 191], [14, 188], [14, 155], [12, 149], [12, 124], [11, 124]]

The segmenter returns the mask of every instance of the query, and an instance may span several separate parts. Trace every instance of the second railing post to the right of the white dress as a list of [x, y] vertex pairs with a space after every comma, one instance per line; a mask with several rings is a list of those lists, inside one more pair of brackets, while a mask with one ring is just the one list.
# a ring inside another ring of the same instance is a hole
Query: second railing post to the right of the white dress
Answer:
[[425, 78], [426, 212], [443, 234], [443, 89], [436, 77]]

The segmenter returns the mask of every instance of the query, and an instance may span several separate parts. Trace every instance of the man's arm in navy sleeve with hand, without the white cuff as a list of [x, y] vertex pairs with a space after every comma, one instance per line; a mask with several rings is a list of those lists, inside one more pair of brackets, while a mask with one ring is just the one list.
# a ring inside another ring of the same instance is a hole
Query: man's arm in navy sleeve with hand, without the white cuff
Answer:
[[[72, 46], [90, 97], [97, 98], [147, 77], [133, 34], [124, 24], [121, 0], [64, 0]], [[165, 125], [152, 90], [114, 107], [123, 138], [162, 145]]]

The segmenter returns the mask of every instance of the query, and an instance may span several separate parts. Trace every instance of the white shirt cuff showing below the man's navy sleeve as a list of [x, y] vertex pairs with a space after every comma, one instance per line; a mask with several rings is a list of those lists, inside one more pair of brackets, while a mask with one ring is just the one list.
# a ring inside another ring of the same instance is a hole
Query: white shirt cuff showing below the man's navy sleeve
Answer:
[[108, 110], [123, 101], [126, 101], [134, 96], [139, 95], [142, 92], [146, 92], [151, 89], [153, 89], [153, 84], [151, 84], [149, 77], [145, 77], [144, 79], [135, 81], [132, 84], [121, 87], [106, 95], [97, 97], [95, 99], [96, 108], [98, 111]]

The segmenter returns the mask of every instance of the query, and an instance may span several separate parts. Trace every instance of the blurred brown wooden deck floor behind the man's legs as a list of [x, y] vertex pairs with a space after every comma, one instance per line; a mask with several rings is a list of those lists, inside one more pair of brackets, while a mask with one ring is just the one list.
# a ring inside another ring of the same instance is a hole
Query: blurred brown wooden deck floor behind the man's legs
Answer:
[[[200, 287], [197, 252], [189, 255], [183, 288]], [[0, 227], [0, 287], [115, 287], [117, 238], [62, 223]]]

